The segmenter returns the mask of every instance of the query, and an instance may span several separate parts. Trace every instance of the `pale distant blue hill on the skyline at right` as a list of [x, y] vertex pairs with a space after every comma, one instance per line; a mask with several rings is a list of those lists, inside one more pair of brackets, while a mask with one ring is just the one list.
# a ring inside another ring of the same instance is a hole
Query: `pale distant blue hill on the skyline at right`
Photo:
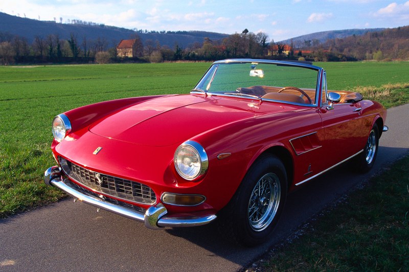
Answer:
[[[308, 47], [306, 46], [305, 41], [310, 41], [311, 45], [312, 42], [319, 41], [319, 43], [324, 43], [329, 39], [342, 39], [348, 36], [360, 36], [364, 35], [368, 32], [379, 32], [384, 30], [383, 28], [378, 28], [378, 29], [346, 29], [346, 30], [331, 30], [331, 31], [323, 31], [323, 32], [315, 32], [307, 35], [302, 35], [298, 37], [294, 37], [291, 39], [283, 40], [280, 41], [279, 43], [284, 43], [284, 44], [290, 44], [291, 40], [294, 44], [294, 47], [296, 48], [303, 48], [303, 47]], [[315, 44], [314, 44], [315, 45]]]

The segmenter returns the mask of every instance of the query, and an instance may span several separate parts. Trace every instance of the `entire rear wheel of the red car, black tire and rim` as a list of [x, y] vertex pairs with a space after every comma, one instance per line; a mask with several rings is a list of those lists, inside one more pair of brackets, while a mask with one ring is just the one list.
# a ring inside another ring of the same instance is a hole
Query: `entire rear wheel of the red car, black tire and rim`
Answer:
[[353, 160], [354, 168], [357, 172], [368, 172], [375, 163], [376, 155], [378, 154], [379, 145], [379, 129], [376, 123], [368, 135], [368, 141], [363, 147], [363, 152]]

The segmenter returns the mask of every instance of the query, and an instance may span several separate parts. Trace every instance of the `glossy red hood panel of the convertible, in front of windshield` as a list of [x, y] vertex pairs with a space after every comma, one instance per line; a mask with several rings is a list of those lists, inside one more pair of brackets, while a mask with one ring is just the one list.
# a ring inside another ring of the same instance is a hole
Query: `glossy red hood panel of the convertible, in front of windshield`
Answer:
[[243, 98], [173, 95], [144, 101], [104, 117], [89, 131], [141, 145], [167, 146], [240, 119], [294, 109]]

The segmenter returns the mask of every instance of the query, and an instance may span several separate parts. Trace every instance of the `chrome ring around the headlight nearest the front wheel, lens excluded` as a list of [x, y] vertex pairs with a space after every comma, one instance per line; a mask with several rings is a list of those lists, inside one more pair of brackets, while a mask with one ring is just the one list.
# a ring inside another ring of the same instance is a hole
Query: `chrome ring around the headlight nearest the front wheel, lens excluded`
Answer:
[[[178, 155], [178, 153], [180, 152], [181, 149], [184, 149], [186, 147], [192, 149], [192, 151], [194, 151], [194, 153], [196, 153], [196, 155], [198, 156], [198, 159], [200, 161], [200, 169], [199, 169], [199, 171], [197, 171], [197, 173], [194, 176], [186, 175], [177, 166], [177, 155]], [[209, 167], [209, 159], [208, 159], [208, 155], [206, 154], [205, 149], [198, 142], [191, 141], [191, 140], [186, 141], [186, 142], [180, 144], [177, 147], [177, 149], [175, 151], [175, 154], [173, 156], [173, 163], [175, 165], [175, 169], [177, 171], [177, 174], [179, 174], [180, 177], [182, 177], [182, 178], [184, 178], [185, 180], [188, 180], [188, 181], [195, 181], [195, 180], [198, 180], [198, 179], [202, 178], [206, 174], [206, 172], [208, 170], [208, 167]]]

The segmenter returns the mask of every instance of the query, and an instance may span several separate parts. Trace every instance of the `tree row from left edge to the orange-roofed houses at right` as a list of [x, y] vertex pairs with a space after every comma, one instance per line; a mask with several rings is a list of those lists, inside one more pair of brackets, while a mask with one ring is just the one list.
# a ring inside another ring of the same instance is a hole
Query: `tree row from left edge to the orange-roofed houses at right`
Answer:
[[[83, 23], [79, 21], [79, 23]], [[185, 32], [177, 32], [185, 34]], [[105, 38], [87, 39], [71, 33], [69, 39], [58, 35], [35, 36], [32, 43], [25, 37], [0, 32], [0, 64], [19, 63], [89, 63], [89, 62], [162, 62], [162, 61], [212, 61], [224, 58], [261, 58], [268, 55], [268, 35], [249, 32], [235, 33], [222, 40], [205, 38], [186, 48], [177, 43], [173, 48], [161, 45], [157, 40], [142, 41], [138, 32], [131, 37], [134, 40], [132, 58], [118, 54], [119, 41]], [[287, 58], [287, 56], [280, 56]]]

